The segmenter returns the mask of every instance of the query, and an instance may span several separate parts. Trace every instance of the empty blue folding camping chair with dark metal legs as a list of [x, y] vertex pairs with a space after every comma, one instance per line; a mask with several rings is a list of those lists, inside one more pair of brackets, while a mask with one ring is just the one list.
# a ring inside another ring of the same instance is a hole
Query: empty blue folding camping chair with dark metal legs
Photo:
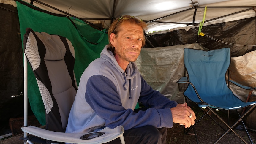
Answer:
[[[185, 100], [190, 100], [196, 103], [198, 107], [201, 108], [200, 110], [205, 112], [205, 114], [196, 121], [195, 125], [205, 115], [208, 115], [209, 111], [211, 111], [228, 127], [227, 130], [222, 128], [226, 132], [221, 137], [219, 137], [215, 143], [217, 143], [223, 136], [225, 136], [225, 134], [230, 131], [234, 132], [244, 143], [247, 143], [234, 131], [234, 128], [236, 128], [239, 122], [243, 124], [246, 134], [252, 143], [242, 118], [245, 118], [245, 116], [255, 108], [256, 102], [241, 101], [228, 87], [225, 80], [225, 75], [229, 68], [230, 61], [230, 48], [222, 48], [210, 51], [184, 48], [184, 67], [185, 72], [187, 71], [188, 77], [181, 77], [176, 83], [187, 83], [188, 86], [183, 93]], [[241, 88], [255, 89], [242, 86], [235, 82], [233, 83], [237, 84]], [[207, 107], [209, 110], [206, 111], [206, 109], [203, 109], [203, 107]], [[244, 107], [248, 107], [248, 109], [242, 115], [240, 115], [238, 109]], [[239, 118], [232, 126], [229, 126], [229, 122], [225, 122], [213, 109], [236, 110]], [[198, 113], [196, 116], [197, 115]], [[214, 120], [211, 115], [208, 116]], [[198, 143], [195, 132], [195, 125], [191, 128], [194, 129], [195, 138]]]

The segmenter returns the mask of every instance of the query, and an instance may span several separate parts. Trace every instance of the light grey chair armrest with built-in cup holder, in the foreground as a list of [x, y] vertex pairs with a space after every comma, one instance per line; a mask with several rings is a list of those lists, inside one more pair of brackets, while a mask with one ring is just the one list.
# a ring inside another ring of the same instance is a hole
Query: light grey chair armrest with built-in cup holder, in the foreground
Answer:
[[53, 131], [41, 129], [35, 126], [26, 126], [26, 127], [22, 127], [21, 129], [23, 132], [27, 132], [29, 134], [32, 134], [34, 136], [37, 136], [46, 140], [52, 140], [56, 142], [65, 142], [65, 143], [78, 143], [78, 144], [106, 143], [118, 137], [121, 137], [122, 134], [124, 133], [123, 126], [117, 126], [114, 129], [110, 129], [106, 127], [98, 131], [98, 132], [103, 132], [104, 133], [103, 135], [89, 139], [89, 140], [83, 140], [80, 137], [89, 133], [76, 134], [76, 133], [53, 132]]

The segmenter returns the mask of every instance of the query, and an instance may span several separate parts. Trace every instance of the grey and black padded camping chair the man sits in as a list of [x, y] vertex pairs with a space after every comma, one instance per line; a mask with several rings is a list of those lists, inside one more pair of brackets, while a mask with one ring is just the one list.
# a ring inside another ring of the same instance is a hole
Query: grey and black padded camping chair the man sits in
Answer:
[[[77, 84], [73, 72], [75, 51], [65, 37], [26, 29], [24, 35], [24, 143], [106, 143], [118, 137], [124, 144], [122, 126], [91, 133], [65, 133]], [[25, 57], [26, 56], [26, 57]], [[27, 59], [26, 59], [27, 58]], [[46, 128], [27, 124], [27, 60], [34, 72], [45, 106]], [[32, 134], [36, 137], [31, 137]]]

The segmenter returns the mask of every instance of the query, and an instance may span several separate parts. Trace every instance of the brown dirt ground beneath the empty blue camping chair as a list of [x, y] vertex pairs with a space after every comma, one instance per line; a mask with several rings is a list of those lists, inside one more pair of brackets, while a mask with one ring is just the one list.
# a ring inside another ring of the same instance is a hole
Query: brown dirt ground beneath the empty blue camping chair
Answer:
[[[194, 111], [197, 111], [197, 108], [192, 108]], [[221, 117], [227, 121], [227, 113], [225, 111], [217, 111]], [[203, 115], [203, 113], [199, 113], [199, 116]], [[196, 121], [199, 119], [197, 116]], [[214, 114], [211, 114], [213, 118], [224, 128], [228, 129], [225, 124], [223, 124]], [[234, 113], [230, 114], [230, 124], [233, 125], [233, 122], [236, 121], [237, 117]], [[241, 124], [241, 123], [239, 123]], [[221, 129], [209, 116], [205, 116], [198, 122], [195, 126], [195, 131], [197, 133], [198, 142], [200, 144], [211, 144], [221, 137], [222, 134], [225, 133], [223, 129]], [[187, 129], [186, 129], [187, 130]], [[253, 141], [256, 143], [256, 132], [254, 129], [249, 128], [249, 135]], [[235, 129], [235, 132], [238, 133], [247, 143], [250, 143], [245, 130]], [[184, 134], [184, 126], [180, 126], [179, 124], [174, 124], [173, 128], [168, 129], [167, 131], [167, 144], [196, 144], [195, 134], [193, 129], [191, 129], [188, 134]], [[244, 143], [236, 134], [227, 133], [221, 140], [219, 140], [218, 144], [241, 144]]]

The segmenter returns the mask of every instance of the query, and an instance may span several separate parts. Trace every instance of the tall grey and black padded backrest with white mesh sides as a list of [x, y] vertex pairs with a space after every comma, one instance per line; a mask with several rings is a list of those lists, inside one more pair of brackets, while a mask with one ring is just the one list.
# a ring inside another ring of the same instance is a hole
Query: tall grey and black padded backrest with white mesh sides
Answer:
[[65, 132], [77, 91], [74, 47], [65, 37], [30, 28], [23, 44], [45, 105], [46, 129]]

